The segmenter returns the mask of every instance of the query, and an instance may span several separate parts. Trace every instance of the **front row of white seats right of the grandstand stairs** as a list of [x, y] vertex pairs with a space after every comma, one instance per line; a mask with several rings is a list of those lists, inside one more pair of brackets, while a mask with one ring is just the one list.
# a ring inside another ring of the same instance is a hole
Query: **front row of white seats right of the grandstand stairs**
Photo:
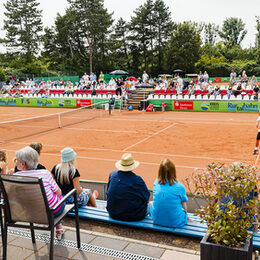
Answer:
[[172, 100], [254, 100], [255, 96], [250, 95], [153, 95], [148, 99], [172, 99]]

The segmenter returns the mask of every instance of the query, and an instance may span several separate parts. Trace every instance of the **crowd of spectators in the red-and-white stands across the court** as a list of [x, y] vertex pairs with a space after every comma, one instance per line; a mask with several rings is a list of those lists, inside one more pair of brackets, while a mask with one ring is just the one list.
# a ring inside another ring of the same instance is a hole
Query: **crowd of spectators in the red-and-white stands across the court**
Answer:
[[246, 72], [243, 71], [242, 75], [236, 74], [234, 70], [230, 73], [229, 84], [215, 84], [209, 78], [207, 71], [198, 74], [197, 78], [188, 81], [183, 79], [180, 75], [176, 74], [174, 77], [168, 78], [167, 75], [162, 75], [159, 78], [152, 78], [143, 72], [141, 78], [134, 77], [120, 77], [113, 78], [109, 82], [105, 82], [104, 74], [101, 72], [99, 77], [94, 73], [87, 75], [85, 73], [79, 80], [73, 84], [71, 80], [35, 80], [27, 78], [25, 81], [12, 80], [9, 84], [4, 84], [0, 89], [0, 93], [6, 96], [41, 96], [41, 97], [54, 97], [59, 96], [72, 96], [88, 94], [95, 96], [98, 94], [111, 94], [115, 97], [126, 97], [129, 91], [134, 91], [138, 87], [152, 88], [155, 90], [154, 94], [170, 94], [170, 95], [231, 95], [235, 97], [238, 95], [250, 95], [255, 99], [258, 98], [259, 85], [256, 77], [253, 75], [249, 80]]

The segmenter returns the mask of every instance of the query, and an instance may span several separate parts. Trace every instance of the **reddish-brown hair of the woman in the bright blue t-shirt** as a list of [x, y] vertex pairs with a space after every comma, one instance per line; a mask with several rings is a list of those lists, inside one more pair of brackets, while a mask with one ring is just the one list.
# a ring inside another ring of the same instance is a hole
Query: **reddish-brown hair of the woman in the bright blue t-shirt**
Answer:
[[176, 168], [170, 159], [163, 159], [159, 167], [158, 183], [165, 184], [167, 181], [169, 181], [170, 185], [177, 182]]

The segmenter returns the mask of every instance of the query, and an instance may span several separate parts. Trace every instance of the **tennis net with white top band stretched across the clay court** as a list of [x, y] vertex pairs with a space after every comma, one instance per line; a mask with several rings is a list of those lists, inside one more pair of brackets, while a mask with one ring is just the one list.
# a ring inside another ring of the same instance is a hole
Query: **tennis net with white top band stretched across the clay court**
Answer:
[[65, 112], [0, 122], [0, 142], [41, 134], [95, 118], [108, 117], [107, 104], [108, 102], [100, 102]]

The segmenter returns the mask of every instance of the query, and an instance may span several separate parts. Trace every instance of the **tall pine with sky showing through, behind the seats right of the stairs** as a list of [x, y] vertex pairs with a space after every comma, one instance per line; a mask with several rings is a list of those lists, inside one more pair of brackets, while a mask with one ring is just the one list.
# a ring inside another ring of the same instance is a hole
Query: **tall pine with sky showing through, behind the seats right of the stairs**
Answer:
[[141, 51], [143, 69], [160, 72], [164, 47], [173, 28], [169, 8], [163, 0], [147, 0], [134, 11], [130, 28], [131, 40]]

